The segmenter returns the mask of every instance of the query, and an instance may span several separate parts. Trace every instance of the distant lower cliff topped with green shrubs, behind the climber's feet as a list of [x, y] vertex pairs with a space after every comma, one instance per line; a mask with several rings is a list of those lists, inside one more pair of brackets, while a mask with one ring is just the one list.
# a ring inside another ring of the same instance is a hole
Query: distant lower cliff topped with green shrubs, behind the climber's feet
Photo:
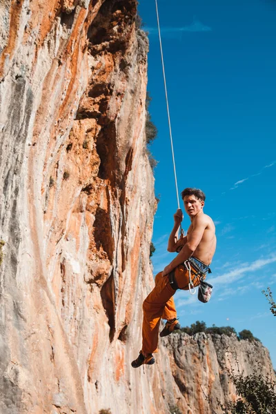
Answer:
[[[238, 341], [236, 335], [206, 335], [186, 333], [170, 335], [166, 342], [173, 380], [166, 401], [176, 405], [181, 413], [221, 413], [221, 404], [237, 399], [226, 368], [235, 374], [253, 373], [262, 366], [262, 373], [275, 379], [268, 350], [257, 341]], [[258, 364], [258, 366], [257, 366]], [[166, 367], [164, 366], [164, 370]], [[173, 395], [173, 400], [172, 400]]]

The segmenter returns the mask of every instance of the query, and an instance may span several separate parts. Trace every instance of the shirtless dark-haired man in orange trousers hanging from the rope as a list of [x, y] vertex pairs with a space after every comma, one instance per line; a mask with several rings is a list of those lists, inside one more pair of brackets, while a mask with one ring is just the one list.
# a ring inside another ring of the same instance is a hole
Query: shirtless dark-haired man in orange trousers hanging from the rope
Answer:
[[[184, 208], [190, 217], [190, 227], [186, 237], [179, 237], [179, 227], [183, 219], [181, 209], [177, 209], [174, 215], [175, 224], [168, 239], [168, 251], [177, 252], [175, 259], [155, 277], [155, 288], [144, 300], [144, 320], [142, 326], [143, 344], [137, 359], [132, 361], [133, 368], [143, 364], [152, 365], [157, 352], [158, 332], [160, 320], [166, 319], [166, 325], [160, 336], [170, 335], [172, 331], [180, 328], [175, 310], [173, 295], [176, 290], [188, 290], [189, 272], [193, 274], [193, 286], [198, 286], [201, 277], [206, 277], [210, 271], [217, 239], [215, 237], [215, 224], [213, 220], [204, 214], [205, 195], [197, 188], [185, 188], [181, 197]], [[185, 263], [186, 262], [186, 265]], [[188, 266], [187, 266], [188, 264]]]

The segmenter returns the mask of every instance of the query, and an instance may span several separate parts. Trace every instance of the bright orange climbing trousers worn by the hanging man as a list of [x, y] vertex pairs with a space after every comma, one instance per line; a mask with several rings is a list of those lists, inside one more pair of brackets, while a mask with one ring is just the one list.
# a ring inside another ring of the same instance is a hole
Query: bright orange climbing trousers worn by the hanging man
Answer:
[[[180, 289], [188, 290], [189, 274], [183, 265], [175, 268], [175, 279]], [[198, 286], [200, 277], [192, 277], [194, 286]], [[155, 288], [152, 289], [148, 297], [144, 300], [143, 311], [143, 353], [157, 352], [159, 324], [161, 319], [174, 319], [177, 317], [175, 301], [173, 295], [176, 290], [172, 289], [168, 280], [168, 275], [162, 277], [158, 273], [155, 277]]]

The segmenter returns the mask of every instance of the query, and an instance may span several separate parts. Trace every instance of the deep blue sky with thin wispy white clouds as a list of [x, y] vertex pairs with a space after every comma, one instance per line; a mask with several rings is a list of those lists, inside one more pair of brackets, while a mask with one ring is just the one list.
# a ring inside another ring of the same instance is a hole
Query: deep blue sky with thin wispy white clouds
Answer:
[[[276, 367], [276, 320], [262, 290], [276, 299], [276, 1], [159, 0], [179, 190], [206, 193], [205, 213], [217, 226], [213, 297], [175, 295], [182, 326], [252, 331]], [[155, 273], [173, 259], [166, 251], [177, 209], [154, 0], [140, 0], [149, 32], [150, 113], [159, 134], [151, 151], [155, 192], [152, 257]], [[184, 229], [189, 226], [184, 216]]]

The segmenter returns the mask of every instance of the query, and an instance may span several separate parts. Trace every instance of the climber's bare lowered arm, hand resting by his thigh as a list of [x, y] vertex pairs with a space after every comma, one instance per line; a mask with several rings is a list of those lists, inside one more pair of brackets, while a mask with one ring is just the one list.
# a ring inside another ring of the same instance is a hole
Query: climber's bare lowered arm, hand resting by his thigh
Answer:
[[183, 246], [177, 257], [164, 268], [163, 276], [168, 275], [174, 268], [179, 266], [179, 264], [188, 260], [188, 258], [193, 255], [197, 246], [201, 242], [202, 236], [204, 235], [204, 230], [206, 229], [208, 222], [204, 216], [196, 217], [193, 221], [193, 230], [188, 235], [186, 244]]

